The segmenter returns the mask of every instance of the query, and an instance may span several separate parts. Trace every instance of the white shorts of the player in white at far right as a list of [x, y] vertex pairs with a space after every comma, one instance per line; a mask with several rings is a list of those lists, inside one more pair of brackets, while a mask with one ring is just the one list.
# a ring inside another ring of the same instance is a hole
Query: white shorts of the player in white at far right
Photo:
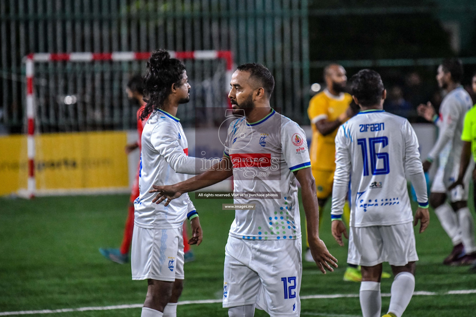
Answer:
[[446, 166], [438, 167], [433, 183], [431, 184], [430, 192], [447, 193], [450, 202], [467, 201], [469, 195], [469, 181], [471, 180], [474, 162], [471, 160], [466, 171], [464, 178], [465, 187], [463, 188], [463, 186], [458, 185], [451, 192], [447, 192], [446, 188], [456, 181], [459, 174], [459, 163], [452, 165], [454, 166], [451, 168], [451, 171], [447, 171], [445, 169]]

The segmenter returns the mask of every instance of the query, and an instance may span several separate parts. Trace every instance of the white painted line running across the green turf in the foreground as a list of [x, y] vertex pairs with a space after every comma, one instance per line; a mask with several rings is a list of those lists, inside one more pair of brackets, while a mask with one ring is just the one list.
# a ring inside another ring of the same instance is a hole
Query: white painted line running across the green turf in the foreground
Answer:
[[[459, 295], [459, 294], [475, 294], [476, 289], [458, 289], [447, 292], [436, 293], [427, 291], [416, 291], [414, 296], [438, 296], [438, 295]], [[306, 295], [301, 296], [301, 299], [324, 299], [324, 298], [356, 298], [358, 294], [327, 294], [327, 295]], [[390, 297], [390, 293], [383, 293], [382, 297]], [[221, 303], [221, 299], [200, 299], [200, 300], [183, 300], [179, 301], [178, 305], [190, 304], [214, 304]], [[32, 314], [52, 314], [52, 313], [68, 313], [74, 311], [88, 311], [88, 310], [110, 310], [110, 309], [126, 309], [126, 308], [140, 308], [141, 304], [130, 305], [113, 305], [113, 306], [98, 306], [98, 307], [79, 307], [79, 308], [62, 308], [62, 309], [42, 309], [42, 310], [20, 310], [20, 311], [4, 311], [0, 312], [0, 316], [14, 316], [14, 315], [32, 315]], [[301, 315], [322, 316], [322, 317], [354, 317], [354, 315], [334, 315], [326, 313], [308, 313], [303, 312]]]

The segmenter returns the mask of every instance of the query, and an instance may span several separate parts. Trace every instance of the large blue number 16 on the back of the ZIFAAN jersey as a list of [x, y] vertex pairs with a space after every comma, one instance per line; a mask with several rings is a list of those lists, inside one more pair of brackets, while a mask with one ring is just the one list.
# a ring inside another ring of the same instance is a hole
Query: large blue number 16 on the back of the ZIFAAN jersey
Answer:
[[[370, 152], [370, 168], [372, 169], [372, 175], [384, 175], [390, 173], [390, 161], [388, 159], [387, 152], [377, 153], [375, 150], [375, 144], [381, 143], [382, 148], [388, 145], [387, 136], [379, 136], [375, 138], [368, 138], [368, 148]], [[368, 176], [368, 157], [367, 157], [367, 139], [357, 139], [357, 144], [362, 149], [362, 159], [364, 163], [364, 176]], [[382, 159], [384, 163], [383, 168], [377, 168], [377, 160]]]

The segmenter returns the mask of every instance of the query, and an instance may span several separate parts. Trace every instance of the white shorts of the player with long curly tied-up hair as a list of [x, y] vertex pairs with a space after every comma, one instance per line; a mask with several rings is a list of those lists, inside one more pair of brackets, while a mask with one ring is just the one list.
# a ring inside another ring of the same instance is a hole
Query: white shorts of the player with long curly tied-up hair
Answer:
[[131, 249], [132, 279], [184, 279], [182, 226], [146, 229], [134, 224]]

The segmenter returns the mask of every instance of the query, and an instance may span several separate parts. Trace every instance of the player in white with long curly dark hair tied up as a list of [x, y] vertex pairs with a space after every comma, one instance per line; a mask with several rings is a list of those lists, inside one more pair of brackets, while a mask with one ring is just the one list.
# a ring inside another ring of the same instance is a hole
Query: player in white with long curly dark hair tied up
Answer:
[[140, 194], [134, 201], [132, 279], [148, 279], [141, 317], [176, 317], [184, 279], [182, 223], [190, 219], [193, 236], [189, 244], [200, 244], [202, 230], [187, 194], [164, 207], [152, 202], [154, 194], [149, 190], [154, 184], [186, 180], [185, 174], [199, 173], [204, 161], [188, 157], [187, 138], [175, 116], [178, 106], [190, 99], [183, 63], [165, 50], [155, 51], [147, 62], [144, 85], [148, 101], [141, 119], [150, 116], [142, 132]]

